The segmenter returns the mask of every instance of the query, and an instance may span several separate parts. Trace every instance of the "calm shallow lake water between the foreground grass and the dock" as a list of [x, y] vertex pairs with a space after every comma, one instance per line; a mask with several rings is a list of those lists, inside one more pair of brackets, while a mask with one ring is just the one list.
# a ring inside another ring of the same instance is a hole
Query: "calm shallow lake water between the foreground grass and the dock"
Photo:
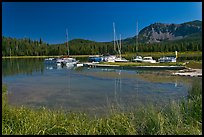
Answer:
[[2, 81], [11, 105], [105, 112], [153, 104], [163, 106], [188, 93], [193, 78], [161, 71], [61, 68], [43, 59], [3, 59]]

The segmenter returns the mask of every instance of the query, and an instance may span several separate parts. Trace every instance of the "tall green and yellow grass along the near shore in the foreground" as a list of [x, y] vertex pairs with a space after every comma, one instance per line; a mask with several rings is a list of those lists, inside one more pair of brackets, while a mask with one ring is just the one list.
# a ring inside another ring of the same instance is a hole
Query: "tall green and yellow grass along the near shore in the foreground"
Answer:
[[158, 109], [141, 107], [129, 112], [113, 110], [108, 116], [47, 108], [9, 106], [6, 88], [2, 93], [4, 135], [201, 135], [202, 85], [195, 81], [188, 98]]

